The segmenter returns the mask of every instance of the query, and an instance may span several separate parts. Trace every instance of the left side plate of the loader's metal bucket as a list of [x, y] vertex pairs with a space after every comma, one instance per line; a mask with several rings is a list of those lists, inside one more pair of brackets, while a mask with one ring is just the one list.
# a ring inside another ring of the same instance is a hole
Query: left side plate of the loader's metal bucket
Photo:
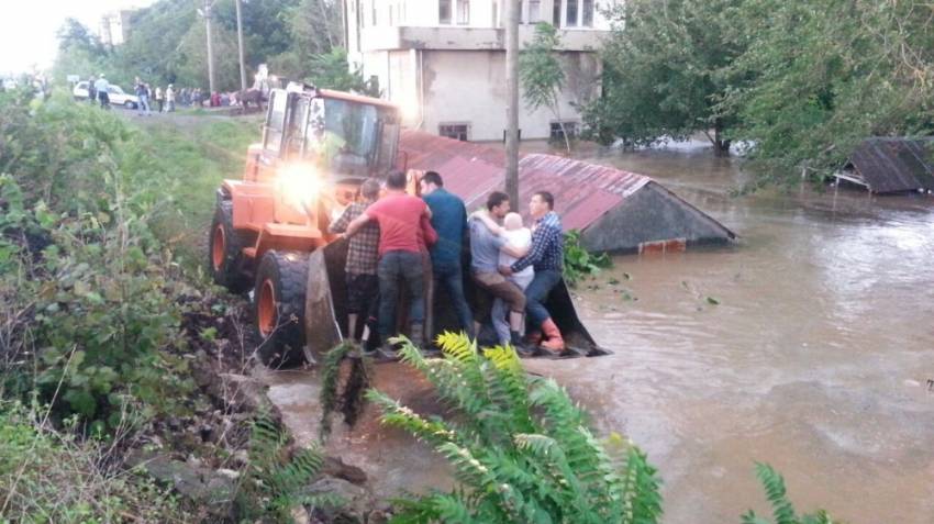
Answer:
[[320, 363], [325, 353], [343, 341], [347, 323], [346, 260], [347, 242], [332, 242], [308, 257], [304, 356], [310, 364]]

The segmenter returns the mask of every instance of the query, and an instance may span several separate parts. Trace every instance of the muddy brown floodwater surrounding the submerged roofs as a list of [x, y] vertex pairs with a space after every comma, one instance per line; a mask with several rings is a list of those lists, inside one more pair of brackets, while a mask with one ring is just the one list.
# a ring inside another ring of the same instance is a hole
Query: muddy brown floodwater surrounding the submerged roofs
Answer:
[[[576, 301], [614, 354], [527, 361], [567, 386], [602, 434], [648, 453], [664, 522], [766, 510], [758, 460], [785, 475], [799, 510], [934, 523], [934, 198], [845, 188], [731, 198], [746, 178], [738, 160], [692, 149], [579, 156], [653, 176], [742, 237], [615, 257]], [[314, 375], [268, 381], [300, 441], [313, 439]], [[385, 383], [403, 400], [424, 395], [408, 379]], [[375, 424], [338, 427], [329, 446], [367, 469], [379, 494], [449, 486], [423, 445]]]

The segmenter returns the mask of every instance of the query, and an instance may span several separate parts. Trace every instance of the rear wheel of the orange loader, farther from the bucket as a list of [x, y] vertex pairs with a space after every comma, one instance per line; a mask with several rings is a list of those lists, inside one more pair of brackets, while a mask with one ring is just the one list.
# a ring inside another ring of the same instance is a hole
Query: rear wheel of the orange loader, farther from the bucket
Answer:
[[218, 286], [232, 293], [242, 293], [251, 286], [243, 272], [243, 248], [247, 245], [247, 237], [234, 230], [233, 202], [219, 199], [208, 233], [208, 271]]

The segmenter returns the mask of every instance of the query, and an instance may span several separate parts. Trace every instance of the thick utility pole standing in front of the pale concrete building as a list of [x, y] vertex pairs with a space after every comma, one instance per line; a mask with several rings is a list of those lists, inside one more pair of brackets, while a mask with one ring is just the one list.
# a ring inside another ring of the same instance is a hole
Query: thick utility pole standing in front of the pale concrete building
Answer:
[[521, 0], [505, 1], [505, 193], [519, 209], [519, 9]]

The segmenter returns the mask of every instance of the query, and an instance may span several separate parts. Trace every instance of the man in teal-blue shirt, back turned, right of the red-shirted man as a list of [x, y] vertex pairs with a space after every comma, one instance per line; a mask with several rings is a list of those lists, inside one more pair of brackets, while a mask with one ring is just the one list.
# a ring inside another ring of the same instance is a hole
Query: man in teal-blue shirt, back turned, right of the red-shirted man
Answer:
[[460, 269], [460, 252], [467, 234], [467, 210], [463, 200], [444, 189], [444, 180], [437, 172], [427, 171], [420, 185], [422, 198], [432, 210], [432, 226], [437, 232], [437, 242], [431, 248], [433, 289], [444, 286], [460, 328], [472, 336], [474, 317], [464, 297]]

